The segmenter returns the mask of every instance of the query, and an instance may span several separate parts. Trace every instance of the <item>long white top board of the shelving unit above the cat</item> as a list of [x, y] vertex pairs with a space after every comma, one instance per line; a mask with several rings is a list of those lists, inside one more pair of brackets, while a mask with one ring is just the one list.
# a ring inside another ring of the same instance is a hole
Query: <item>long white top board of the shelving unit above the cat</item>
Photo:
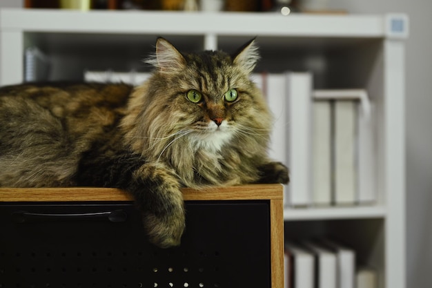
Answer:
[[[0, 19], [1, 27], [7, 30], [33, 32], [291, 37], [384, 37], [386, 35], [384, 18], [379, 15], [294, 14], [284, 17], [273, 13], [3, 9]], [[240, 22], [241, 25], [233, 25]], [[165, 25], [155, 25], [155, 23], [165, 23]]]

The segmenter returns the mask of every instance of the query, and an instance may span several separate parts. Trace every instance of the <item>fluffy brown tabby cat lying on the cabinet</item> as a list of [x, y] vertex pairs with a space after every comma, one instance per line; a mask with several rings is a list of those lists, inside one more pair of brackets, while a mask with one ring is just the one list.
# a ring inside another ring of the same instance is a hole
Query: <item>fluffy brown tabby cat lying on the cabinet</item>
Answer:
[[259, 55], [179, 52], [159, 38], [153, 75], [126, 84], [0, 89], [0, 186], [118, 187], [132, 194], [151, 242], [179, 244], [180, 188], [286, 183], [266, 154], [272, 127], [249, 79]]

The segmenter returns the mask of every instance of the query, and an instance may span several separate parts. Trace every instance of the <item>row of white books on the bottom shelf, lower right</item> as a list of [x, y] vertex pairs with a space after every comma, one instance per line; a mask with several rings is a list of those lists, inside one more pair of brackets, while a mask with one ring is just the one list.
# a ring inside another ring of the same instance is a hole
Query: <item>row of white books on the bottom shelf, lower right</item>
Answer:
[[376, 288], [377, 273], [358, 268], [355, 251], [331, 240], [286, 242], [285, 288]]

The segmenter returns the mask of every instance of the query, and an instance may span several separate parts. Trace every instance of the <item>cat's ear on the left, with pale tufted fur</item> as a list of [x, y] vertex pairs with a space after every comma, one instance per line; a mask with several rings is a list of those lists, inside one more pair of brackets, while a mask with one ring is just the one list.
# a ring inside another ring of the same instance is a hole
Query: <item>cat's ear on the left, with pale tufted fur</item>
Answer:
[[152, 64], [160, 72], [177, 72], [183, 70], [186, 66], [186, 60], [183, 55], [170, 44], [168, 40], [159, 37], [156, 41], [156, 52], [153, 57], [146, 61], [148, 64]]

